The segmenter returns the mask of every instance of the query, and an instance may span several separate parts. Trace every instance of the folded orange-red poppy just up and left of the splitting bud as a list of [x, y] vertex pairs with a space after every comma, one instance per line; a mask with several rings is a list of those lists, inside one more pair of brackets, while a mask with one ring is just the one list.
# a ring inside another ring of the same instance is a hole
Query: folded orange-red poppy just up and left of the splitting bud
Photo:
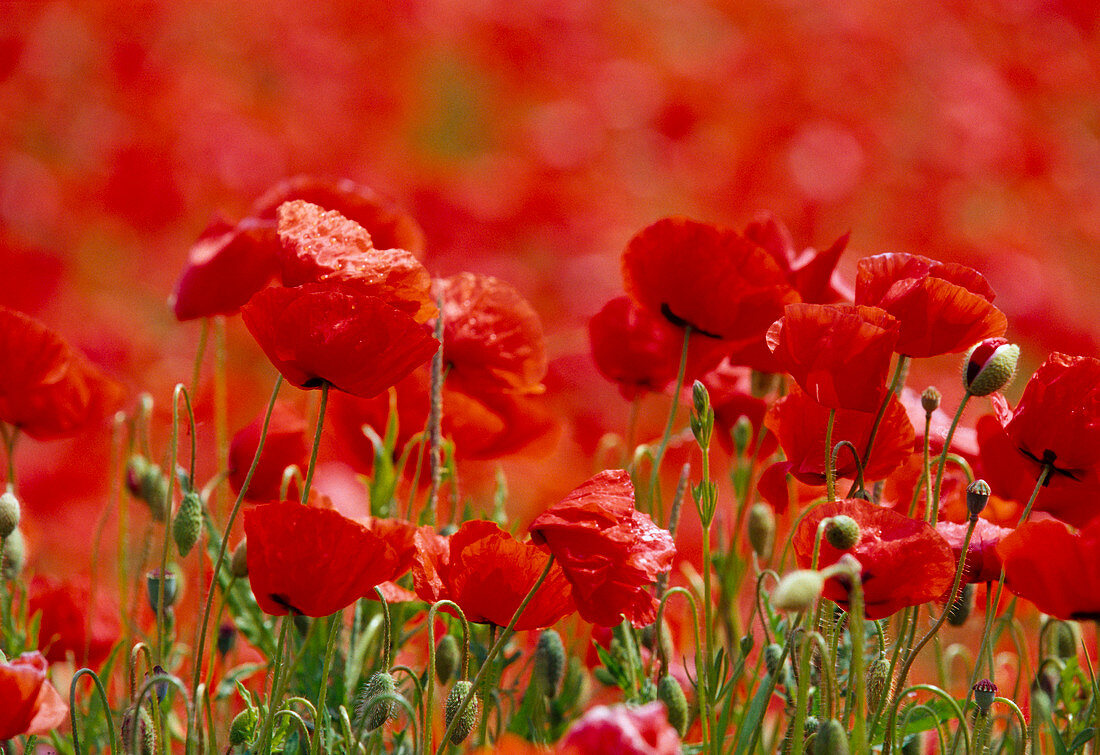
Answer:
[[856, 274], [856, 304], [898, 318], [894, 349], [909, 357], [955, 353], [1003, 335], [1008, 319], [993, 297], [977, 271], [917, 254], [864, 258]]

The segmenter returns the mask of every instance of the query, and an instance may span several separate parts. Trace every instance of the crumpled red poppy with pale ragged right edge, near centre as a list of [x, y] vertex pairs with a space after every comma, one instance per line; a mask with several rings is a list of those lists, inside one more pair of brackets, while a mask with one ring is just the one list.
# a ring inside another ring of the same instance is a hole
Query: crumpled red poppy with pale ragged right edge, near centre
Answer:
[[634, 483], [622, 469], [605, 470], [531, 523], [531, 539], [546, 543], [573, 586], [586, 621], [635, 626], [657, 619], [649, 587], [672, 566], [672, 536], [634, 506]]

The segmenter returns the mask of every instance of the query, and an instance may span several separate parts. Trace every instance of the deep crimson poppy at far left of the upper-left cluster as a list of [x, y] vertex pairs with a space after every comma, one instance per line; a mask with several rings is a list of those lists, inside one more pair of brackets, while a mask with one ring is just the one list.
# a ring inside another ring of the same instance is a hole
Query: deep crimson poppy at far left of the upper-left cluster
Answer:
[[278, 245], [271, 223], [215, 220], [191, 244], [169, 304], [177, 320], [235, 315], [274, 280]]

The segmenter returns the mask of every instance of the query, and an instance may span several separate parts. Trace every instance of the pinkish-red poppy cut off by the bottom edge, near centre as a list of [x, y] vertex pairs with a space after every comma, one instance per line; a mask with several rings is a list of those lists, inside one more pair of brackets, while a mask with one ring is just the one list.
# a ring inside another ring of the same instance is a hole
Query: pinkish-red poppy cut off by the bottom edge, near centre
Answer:
[[661, 702], [639, 708], [596, 705], [578, 719], [558, 745], [561, 755], [680, 755], [680, 735]]

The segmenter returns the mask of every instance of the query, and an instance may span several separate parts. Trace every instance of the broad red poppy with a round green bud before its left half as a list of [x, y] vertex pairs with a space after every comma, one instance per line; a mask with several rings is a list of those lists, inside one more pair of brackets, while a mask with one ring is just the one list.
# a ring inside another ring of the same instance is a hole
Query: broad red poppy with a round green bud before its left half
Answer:
[[[840, 514], [859, 524], [859, 541], [850, 550], [838, 550], [823, 540], [817, 567], [831, 566], [846, 552], [856, 557], [862, 568], [868, 619], [884, 619], [936, 600], [950, 588], [956, 562], [950, 546], [932, 525], [858, 499], [815, 506], [802, 519], [793, 539], [800, 567], [807, 569], [813, 561], [817, 525]], [[848, 589], [839, 578], [826, 580], [823, 594], [847, 609]]]

